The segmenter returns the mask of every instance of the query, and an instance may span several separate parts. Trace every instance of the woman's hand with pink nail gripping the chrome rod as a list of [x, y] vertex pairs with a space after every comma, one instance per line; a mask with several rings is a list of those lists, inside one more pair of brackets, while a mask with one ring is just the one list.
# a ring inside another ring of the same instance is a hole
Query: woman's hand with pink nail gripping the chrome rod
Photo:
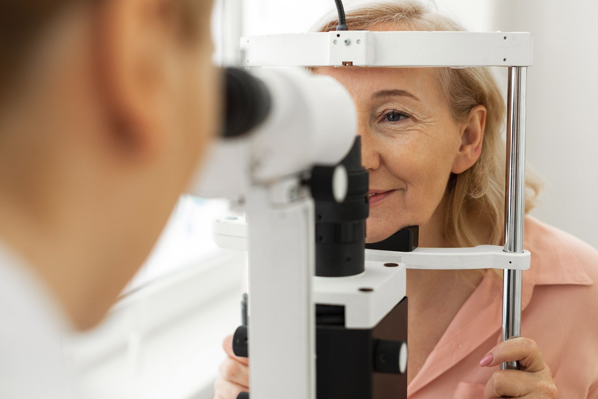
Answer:
[[480, 366], [499, 366], [508, 361], [519, 361], [521, 370], [500, 370], [492, 374], [484, 391], [486, 399], [556, 399], [557, 387], [552, 373], [535, 341], [514, 338], [501, 342], [484, 356]]

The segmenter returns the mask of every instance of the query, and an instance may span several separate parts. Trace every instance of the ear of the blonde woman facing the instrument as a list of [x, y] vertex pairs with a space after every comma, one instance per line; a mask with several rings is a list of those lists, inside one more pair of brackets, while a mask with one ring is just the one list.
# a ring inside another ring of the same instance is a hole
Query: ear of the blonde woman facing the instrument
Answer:
[[456, 174], [465, 172], [480, 159], [486, 127], [486, 115], [485, 106], [474, 106], [469, 111], [465, 123], [460, 125], [461, 145], [451, 167], [451, 172]]

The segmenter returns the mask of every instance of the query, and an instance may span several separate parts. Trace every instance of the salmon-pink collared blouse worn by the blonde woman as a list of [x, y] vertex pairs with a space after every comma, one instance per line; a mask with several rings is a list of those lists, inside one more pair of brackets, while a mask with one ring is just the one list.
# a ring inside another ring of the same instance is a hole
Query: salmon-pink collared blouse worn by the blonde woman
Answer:
[[[589, 223], [589, 222], [588, 222]], [[559, 398], [598, 399], [598, 251], [526, 217], [521, 335], [538, 343]], [[501, 341], [502, 278], [489, 270], [407, 388], [409, 399], [483, 399], [500, 369], [480, 367]]]

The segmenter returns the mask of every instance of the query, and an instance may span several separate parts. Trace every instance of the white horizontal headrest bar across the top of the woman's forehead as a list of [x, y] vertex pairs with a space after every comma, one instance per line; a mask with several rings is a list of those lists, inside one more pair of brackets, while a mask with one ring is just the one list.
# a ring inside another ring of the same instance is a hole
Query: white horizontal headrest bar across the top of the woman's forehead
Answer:
[[242, 66], [530, 66], [527, 32], [334, 31], [241, 39]]

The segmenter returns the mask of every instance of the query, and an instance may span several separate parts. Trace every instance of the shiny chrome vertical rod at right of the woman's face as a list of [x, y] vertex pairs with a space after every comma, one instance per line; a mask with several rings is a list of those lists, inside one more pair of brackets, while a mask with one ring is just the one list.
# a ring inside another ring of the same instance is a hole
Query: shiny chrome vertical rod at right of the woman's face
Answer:
[[[526, 73], [509, 68], [507, 95], [507, 175], [505, 181], [505, 251], [523, 252], [525, 217]], [[502, 291], [502, 340], [521, 335], [521, 270], [505, 270]], [[518, 368], [517, 362], [501, 368]]]

